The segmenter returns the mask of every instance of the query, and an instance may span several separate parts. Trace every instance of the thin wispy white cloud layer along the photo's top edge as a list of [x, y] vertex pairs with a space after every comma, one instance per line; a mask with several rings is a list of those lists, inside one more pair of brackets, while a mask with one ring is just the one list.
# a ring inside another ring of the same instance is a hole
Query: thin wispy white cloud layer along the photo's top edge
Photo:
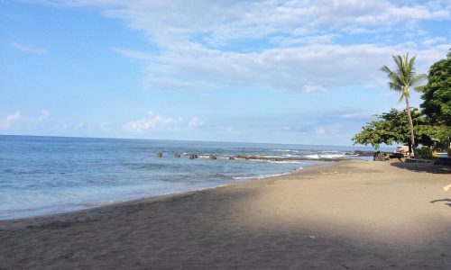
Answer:
[[[50, 1], [53, 2], [54, 1]], [[209, 44], [315, 31], [359, 32], [386, 27], [405, 29], [421, 20], [446, 20], [450, 3], [418, 4], [387, 0], [293, 1], [58, 1], [95, 5], [107, 16], [144, 31], [152, 40], [170, 42], [202, 35]]]

